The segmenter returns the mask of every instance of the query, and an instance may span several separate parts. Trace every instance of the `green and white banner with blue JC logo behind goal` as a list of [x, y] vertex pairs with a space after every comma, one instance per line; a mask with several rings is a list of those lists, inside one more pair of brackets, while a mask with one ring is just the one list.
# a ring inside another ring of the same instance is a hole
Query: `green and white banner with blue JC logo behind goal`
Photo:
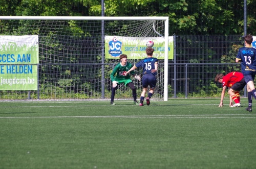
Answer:
[[[119, 59], [125, 54], [129, 59], [143, 59], [146, 57], [146, 42], [153, 41], [155, 50], [153, 57], [164, 59], [164, 38], [163, 37], [122, 37], [105, 36], [105, 58]], [[174, 58], [174, 38], [168, 37], [168, 59]]]

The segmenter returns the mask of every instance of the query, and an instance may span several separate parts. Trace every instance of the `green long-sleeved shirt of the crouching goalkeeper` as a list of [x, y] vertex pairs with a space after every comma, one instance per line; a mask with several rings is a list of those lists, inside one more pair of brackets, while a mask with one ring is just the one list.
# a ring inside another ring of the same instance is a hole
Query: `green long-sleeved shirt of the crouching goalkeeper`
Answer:
[[[116, 66], [115, 66], [115, 68], [114, 68], [114, 70], [112, 71], [112, 74], [110, 75], [110, 78], [111, 78], [111, 81], [113, 82], [113, 81], [119, 81], [119, 80], [125, 80], [125, 79], [131, 79], [130, 77], [130, 75], [127, 75], [127, 76], [124, 76], [123, 74], [126, 72], [126, 71], [128, 71], [128, 70], [130, 70], [130, 68], [132, 68], [133, 67], [133, 65], [131, 64], [131, 63], [129, 63], [129, 62], [126, 62], [126, 65], [125, 66], [122, 66], [121, 65], [121, 62], [120, 63], [118, 63]], [[130, 72], [132, 75], [134, 75], [135, 73], [134, 73], [134, 70], [132, 70], [131, 72]], [[116, 75], [116, 76], [115, 76]]]

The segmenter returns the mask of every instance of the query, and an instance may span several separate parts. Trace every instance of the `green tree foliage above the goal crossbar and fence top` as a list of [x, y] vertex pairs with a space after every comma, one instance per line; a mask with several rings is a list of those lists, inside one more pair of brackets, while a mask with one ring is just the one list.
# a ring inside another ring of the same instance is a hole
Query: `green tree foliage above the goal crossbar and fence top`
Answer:
[[[244, 3], [234, 0], [105, 0], [104, 3], [105, 16], [168, 16], [170, 35], [242, 35], [244, 32]], [[255, 6], [254, 1], [247, 1], [247, 30], [252, 35], [256, 34]], [[98, 0], [0, 2], [2, 16], [101, 16], [101, 9]], [[70, 23], [72, 32], [82, 32], [73, 23]]]

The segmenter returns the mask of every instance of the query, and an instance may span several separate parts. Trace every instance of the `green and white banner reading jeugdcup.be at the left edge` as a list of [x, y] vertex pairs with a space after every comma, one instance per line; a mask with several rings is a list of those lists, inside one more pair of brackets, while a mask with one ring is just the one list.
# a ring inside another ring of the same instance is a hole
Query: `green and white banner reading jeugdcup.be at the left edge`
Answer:
[[37, 90], [38, 36], [0, 36], [0, 90]]

